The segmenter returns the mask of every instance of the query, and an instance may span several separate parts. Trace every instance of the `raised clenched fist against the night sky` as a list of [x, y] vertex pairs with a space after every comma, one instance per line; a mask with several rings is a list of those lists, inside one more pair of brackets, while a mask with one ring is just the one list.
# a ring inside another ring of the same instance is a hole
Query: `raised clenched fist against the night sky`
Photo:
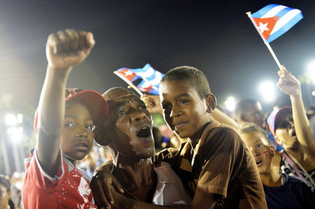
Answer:
[[95, 41], [91, 32], [65, 29], [52, 33], [46, 43], [48, 67], [69, 68], [83, 62]]

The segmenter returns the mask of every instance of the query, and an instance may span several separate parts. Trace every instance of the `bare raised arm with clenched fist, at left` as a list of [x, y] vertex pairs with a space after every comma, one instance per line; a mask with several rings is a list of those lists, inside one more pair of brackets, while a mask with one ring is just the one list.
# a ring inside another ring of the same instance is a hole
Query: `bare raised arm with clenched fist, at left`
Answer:
[[87, 58], [94, 46], [90, 32], [66, 29], [48, 36], [48, 67], [38, 104], [36, 154], [42, 168], [57, 173], [58, 154], [64, 126], [66, 81], [73, 65]]

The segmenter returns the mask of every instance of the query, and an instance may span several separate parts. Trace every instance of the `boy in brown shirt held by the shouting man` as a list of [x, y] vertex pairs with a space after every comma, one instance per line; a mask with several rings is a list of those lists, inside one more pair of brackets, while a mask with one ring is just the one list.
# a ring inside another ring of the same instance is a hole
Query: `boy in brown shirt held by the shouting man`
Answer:
[[[216, 97], [206, 76], [194, 67], [170, 70], [160, 82], [160, 101], [167, 126], [188, 139], [180, 149], [159, 154], [193, 198], [181, 208], [267, 208], [251, 151], [235, 130], [210, 118]], [[160, 208], [126, 198], [116, 189], [111, 194], [114, 207]]]

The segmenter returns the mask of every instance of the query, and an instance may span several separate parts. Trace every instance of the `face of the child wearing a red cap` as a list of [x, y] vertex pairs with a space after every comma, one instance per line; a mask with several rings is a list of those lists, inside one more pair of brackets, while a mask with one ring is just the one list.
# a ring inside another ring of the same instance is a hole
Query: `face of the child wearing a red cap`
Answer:
[[92, 149], [93, 121], [90, 112], [80, 102], [66, 107], [61, 147], [64, 156], [73, 160], [83, 159]]

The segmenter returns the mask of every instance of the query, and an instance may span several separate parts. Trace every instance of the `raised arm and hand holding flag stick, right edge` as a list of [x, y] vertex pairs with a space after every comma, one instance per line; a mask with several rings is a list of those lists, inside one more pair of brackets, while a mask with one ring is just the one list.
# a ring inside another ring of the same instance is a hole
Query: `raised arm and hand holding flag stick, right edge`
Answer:
[[315, 143], [311, 135], [307, 115], [305, 114], [300, 81], [288, 72], [284, 66], [278, 71], [278, 74], [279, 81], [276, 83], [276, 86], [284, 93], [290, 95], [297, 140], [299, 140], [303, 147], [309, 149], [310, 153], [314, 153]]

